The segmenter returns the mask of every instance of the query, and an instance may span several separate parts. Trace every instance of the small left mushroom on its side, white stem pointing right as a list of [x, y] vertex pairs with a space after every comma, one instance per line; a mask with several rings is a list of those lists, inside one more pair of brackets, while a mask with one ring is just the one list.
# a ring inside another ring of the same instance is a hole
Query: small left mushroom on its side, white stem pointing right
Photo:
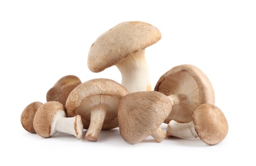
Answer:
[[46, 102], [36, 111], [33, 126], [38, 135], [49, 138], [57, 132], [68, 133], [81, 139], [83, 122], [81, 116], [67, 117], [65, 107], [60, 102]]

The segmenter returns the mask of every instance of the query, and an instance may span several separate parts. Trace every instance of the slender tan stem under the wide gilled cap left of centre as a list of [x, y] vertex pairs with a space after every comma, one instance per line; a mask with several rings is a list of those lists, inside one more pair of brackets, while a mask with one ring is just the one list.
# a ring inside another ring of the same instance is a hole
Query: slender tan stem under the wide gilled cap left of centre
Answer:
[[106, 110], [106, 105], [102, 103], [93, 107], [91, 111], [90, 126], [86, 132], [85, 139], [94, 142], [98, 140], [106, 116]]

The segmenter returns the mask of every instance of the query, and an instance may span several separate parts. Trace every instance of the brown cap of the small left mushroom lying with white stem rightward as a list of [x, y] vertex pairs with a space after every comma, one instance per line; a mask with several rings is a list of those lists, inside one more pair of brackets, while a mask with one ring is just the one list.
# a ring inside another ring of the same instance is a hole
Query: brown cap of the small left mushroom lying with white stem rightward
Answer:
[[52, 136], [51, 126], [54, 126], [52, 122], [58, 112], [62, 112], [63, 117], [66, 116], [63, 104], [56, 101], [46, 102], [38, 108], [33, 121], [35, 131], [38, 135], [44, 138]]

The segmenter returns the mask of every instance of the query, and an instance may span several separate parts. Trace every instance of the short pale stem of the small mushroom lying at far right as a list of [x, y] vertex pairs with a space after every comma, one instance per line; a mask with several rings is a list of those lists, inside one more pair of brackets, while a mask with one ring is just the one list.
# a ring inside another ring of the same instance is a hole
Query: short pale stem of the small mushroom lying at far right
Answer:
[[174, 120], [170, 121], [166, 128], [166, 135], [168, 137], [178, 137], [180, 139], [191, 139], [198, 137], [193, 121], [189, 123], [177, 123]]

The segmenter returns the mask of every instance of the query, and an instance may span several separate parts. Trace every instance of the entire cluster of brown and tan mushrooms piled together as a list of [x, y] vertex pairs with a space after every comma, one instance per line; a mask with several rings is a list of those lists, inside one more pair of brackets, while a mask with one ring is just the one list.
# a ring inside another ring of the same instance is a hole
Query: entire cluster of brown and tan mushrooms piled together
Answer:
[[[30, 103], [20, 117], [30, 133], [49, 138], [57, 132], [97, 141], [101, 130], [119, 128], [129, 144], [152, 135], [200, 138], [218, 144], [228, 133], [223, 112], [204, 72], [191, 64], [174, 66], [164, 73], [154, 90], [150, 85], [145, 49], [161, 39], [159, 29], [147, 22], [122, 22], [101, 34], [88, 54], [88, 68], [102, 72], [116, 66], [121, 84], [108, 78], [82, 82], [65, 75], [46, 93], [46, 103]], [[164, 131], [161, 124], [166, 123]]]

